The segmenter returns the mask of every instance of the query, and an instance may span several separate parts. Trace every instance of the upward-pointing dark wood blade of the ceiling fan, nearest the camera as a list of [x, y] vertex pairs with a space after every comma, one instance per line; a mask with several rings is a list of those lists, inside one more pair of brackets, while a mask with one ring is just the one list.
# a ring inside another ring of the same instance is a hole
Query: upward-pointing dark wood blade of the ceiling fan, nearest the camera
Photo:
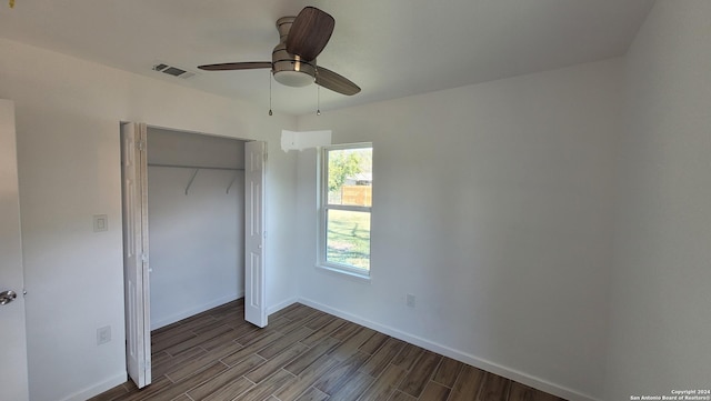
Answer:
[[316, 59], [331, 39], [333, 17], [314, 7], [307, 7], [293, 20], [287, 37], [287, 51], [306, 61]]

